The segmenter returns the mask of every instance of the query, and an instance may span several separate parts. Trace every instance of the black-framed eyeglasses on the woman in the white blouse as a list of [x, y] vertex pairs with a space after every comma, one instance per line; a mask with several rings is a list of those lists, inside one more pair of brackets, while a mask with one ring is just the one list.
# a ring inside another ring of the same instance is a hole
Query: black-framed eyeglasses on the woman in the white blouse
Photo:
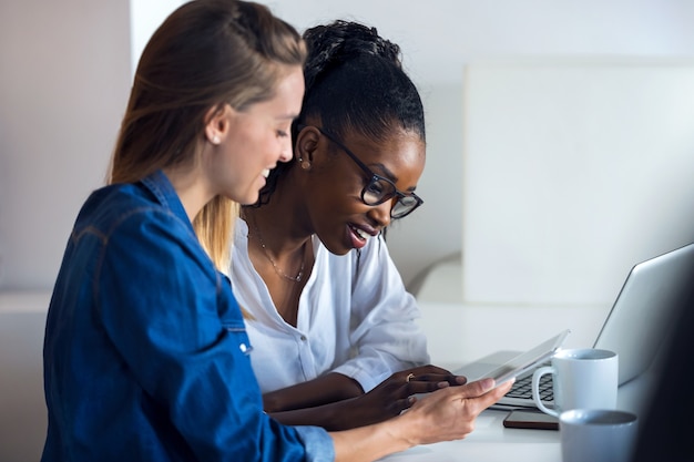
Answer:
[[343, 150], [364, 171], [364, 173], [369, 176], [369, 182], [366, 184], [366, 186], [364, 186], [364, 189], [361, 189], [361, 201], [366, 205], [380, 205], [387, 201], [391, 201], [394, 197], [397, 197], [398, 201], [390, 208], [390, 218], [398, 219], [411, 214], [415, 208], [423, 204], [423, 201], [417, 194], [405, 194], [398, 191], [398, 188], [395, 186], [395, 183], [392, 183], [390, 179], [371, 172], [371, 170], [367, 167], [364, 162], [359, 161], [359, 157], [357, 157], [355, 153], [353, 153], [343, 143], [337, 141], [334, 135], [327, 133], [324, 129], [320, 129], [319, 126], [316, 126], [316, 129], [325, 137], [337, 144], [339, 148]]

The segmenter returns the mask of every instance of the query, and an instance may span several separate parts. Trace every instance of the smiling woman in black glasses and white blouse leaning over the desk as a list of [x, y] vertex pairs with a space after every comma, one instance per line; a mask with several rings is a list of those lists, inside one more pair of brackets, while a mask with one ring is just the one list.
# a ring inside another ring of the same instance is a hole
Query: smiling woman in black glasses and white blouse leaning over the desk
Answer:
[[345, 429], [465, 379], [425, 366], [419, 310], [382, 238], [422, 204], [423, 109], [400, 50], [345, 21], [304, 39], [294, 158], [242, 209], [231, 273], [265, 410], [286, 423]]

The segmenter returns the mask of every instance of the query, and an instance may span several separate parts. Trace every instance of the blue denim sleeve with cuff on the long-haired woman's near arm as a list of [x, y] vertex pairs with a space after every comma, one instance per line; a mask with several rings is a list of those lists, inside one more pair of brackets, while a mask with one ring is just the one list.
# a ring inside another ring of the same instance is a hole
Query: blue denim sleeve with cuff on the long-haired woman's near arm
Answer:
[[198, 460], [305, 460], [304, 444], [316, 444], [313, 460], [330, 460], [327, 433], [263, 412], [231, 286], [187, 224], [161, 209], [134, 214], [109, 236], [99, 268], [106, 335], [144, 404], [171, 420]]

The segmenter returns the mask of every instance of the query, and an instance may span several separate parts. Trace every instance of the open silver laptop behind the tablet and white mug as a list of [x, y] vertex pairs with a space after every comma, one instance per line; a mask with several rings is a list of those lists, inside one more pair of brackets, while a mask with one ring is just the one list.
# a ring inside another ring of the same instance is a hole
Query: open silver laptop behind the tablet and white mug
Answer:
[[[647, 402], [659, 366], [663, 362], [662, 356], [667, 351], [673, 317], [685, 301], [686, 290], [693, 283], [694, 243], [639, 263], [630, 270], [593, 343], [594, 348], [619, 355], [618, 405], [621, 409], [637, 412]], [[497, 351], [455, 372], [469, 380], [481, 379], [518, 355], [519, 351]], [[530, 394], [533, 371], [517, 377], [511, 391], [493, 408], [535, 408]], [[542, 400], [551, 407], [551, 374], [543, 376], [543, 379]]]

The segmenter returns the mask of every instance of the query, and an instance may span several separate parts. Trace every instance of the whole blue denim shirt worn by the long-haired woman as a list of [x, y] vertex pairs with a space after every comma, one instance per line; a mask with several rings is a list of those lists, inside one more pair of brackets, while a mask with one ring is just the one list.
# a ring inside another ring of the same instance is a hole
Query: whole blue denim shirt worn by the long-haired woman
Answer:
[[263, 412], [228, 279], [157, 172], [94, 192], [53, 289], [43, 461], [331, 461]]

